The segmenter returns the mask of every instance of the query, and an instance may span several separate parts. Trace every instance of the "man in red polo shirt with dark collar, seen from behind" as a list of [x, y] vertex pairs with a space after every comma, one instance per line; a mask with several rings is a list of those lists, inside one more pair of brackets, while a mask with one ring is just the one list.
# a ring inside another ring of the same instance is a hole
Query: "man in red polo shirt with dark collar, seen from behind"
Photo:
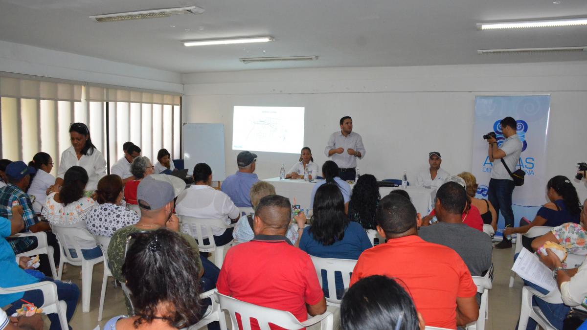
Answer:
[[[326, 311], [326, 300], [310, 256], [285, 237], [290, 220], [288, 198], [261, 198], [255, 210], [255, 237], [228, 250], [216, 288], [221, 294], [288, 311], [306, 321], [308, 314]], [[301, 221], [298, 225], [303, 227]], [[259, 329], [255, 320], [251, 328]]]

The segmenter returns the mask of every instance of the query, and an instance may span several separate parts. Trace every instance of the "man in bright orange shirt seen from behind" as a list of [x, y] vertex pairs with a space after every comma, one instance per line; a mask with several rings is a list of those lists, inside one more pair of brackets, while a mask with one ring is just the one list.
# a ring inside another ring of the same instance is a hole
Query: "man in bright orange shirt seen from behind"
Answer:
[[350, 285], [370, 275], [396, 278], [414, 299], [427, 326], [456, 329], [477, 319], [477, 287], [451, 248], [418, 237], [420, 214], [407, 198], [390, 194], [377, 208], [377, 232], [387, 238], [363, 252]]

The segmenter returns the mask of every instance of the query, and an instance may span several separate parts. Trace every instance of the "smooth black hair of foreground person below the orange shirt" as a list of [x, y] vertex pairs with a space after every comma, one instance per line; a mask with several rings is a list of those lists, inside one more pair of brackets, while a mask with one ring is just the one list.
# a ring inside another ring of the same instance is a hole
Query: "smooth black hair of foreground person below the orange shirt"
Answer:
[[410, 295], [393, 278], [383, 275], [362, 278], [346, 291], [340, 305], [340, 326], [342, 330], [420, 329]]

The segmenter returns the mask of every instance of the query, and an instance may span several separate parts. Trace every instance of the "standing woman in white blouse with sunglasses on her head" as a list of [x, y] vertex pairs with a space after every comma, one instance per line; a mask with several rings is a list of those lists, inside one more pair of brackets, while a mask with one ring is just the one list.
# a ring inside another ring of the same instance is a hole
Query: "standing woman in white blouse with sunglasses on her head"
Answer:
[[63, 151], [55, 186], [62, 186], [65, 172], [72, 166], [81, 166], [87, 172], [86, 196], [91, 196], [98, 186], [98, 181], [106, 175], [106, 160], [96, 149], [90, 139], [90, 130], [84, 123], [73, 123], [69, 126], [69, 137], [72, 146]]

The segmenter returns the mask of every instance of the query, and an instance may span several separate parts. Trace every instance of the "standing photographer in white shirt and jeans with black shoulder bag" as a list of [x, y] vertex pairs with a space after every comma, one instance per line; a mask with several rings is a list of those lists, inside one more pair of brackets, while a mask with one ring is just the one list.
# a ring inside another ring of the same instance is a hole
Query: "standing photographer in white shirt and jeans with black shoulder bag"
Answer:
[[[501, 120], [501, 132], [505, 140], [501, 148], [497, 146], [495, 133], [491, 132], [483, 138], [489, 143], [488, 156], [493, 163], [491, 180], [489, 181], [488, 200], [495, 208], [495, 213], [501, 214], [505, 219], [505, 227], [514, 227], [514, 211], [512, 211], [512, 193], [514, 192], [514, 180], [505, 169], [505, 165], [514, 171], [518, 163], [519, 155], [522, 153], [522, 142], [516, 134], [516, 122], [512, 117], [505, 117]], [[505, 237], [495, 245], [495, 248], [511, 248], [512, 243]]]

